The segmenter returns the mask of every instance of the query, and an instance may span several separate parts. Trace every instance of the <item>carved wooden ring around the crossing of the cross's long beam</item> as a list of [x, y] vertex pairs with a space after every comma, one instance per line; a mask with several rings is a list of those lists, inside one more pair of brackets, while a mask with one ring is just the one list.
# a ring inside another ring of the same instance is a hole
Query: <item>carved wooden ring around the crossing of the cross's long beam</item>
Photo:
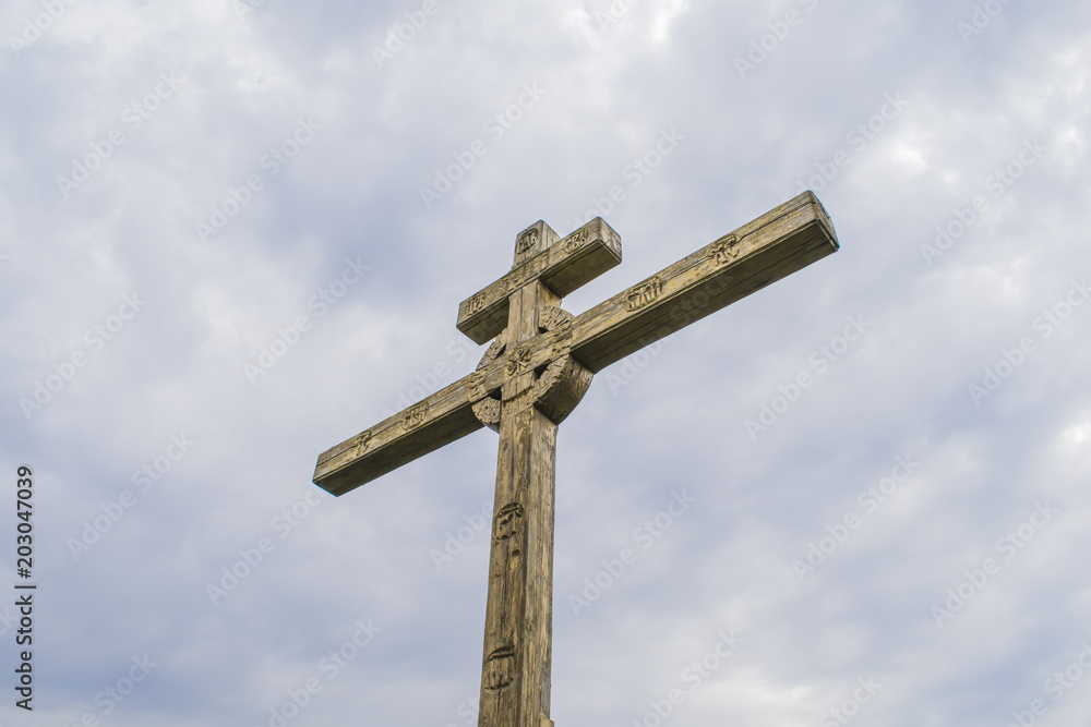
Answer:
[[572, 356], [572, 314], [559, 307], [548, 306], [538, 312], [538, 327], [543, 331], [540, 336], [550, 337], [550, 363], [530, 388], [507, 400], [493, 398], [484, 390], [484, 369], [506, 354], [505, 375], [526, 374], [533, 363], [531, 354], [536, 347], [528, 341], [509, 351], [506, 330], [489, 347], [470, 380], [473, 413], [482, 424], [499, 429], [505, 409], [516, 413], [536, 407], [554, 424], [573, 412], [590, 388], [594, 374]]

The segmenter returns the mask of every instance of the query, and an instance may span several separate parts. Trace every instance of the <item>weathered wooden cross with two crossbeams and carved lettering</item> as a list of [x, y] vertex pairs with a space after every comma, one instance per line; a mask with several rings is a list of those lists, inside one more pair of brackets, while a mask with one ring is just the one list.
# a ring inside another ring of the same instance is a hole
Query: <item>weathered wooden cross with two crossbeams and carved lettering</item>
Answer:
[[837, 249], [804, 192], [573, 316], [561, 299], [619, 265], [621, 239], [601, 218], [564, 239], [536, 222], [512, 271], [458, 310], [458, 330], [492, 341], [477, 371], [319, 457], [314, 484], [339, 496], [483, 426], [500, 433], [480, 727], [552, 724], [556, 431], [591, 377]]

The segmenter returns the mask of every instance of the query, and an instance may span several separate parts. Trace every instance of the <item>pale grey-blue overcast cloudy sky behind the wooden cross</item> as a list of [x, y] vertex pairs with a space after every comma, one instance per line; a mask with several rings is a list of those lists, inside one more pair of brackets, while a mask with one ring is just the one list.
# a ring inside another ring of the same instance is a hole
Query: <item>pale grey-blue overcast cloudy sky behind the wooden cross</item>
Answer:
[[1087, 3], [163, 4], [0, 8], [0, 723], [475, 725], [495, 435], [317, 455], [536, 220], [622, 238], [579, 314], [812, 189], [561, 427], [552, 717], [1088, 724]]

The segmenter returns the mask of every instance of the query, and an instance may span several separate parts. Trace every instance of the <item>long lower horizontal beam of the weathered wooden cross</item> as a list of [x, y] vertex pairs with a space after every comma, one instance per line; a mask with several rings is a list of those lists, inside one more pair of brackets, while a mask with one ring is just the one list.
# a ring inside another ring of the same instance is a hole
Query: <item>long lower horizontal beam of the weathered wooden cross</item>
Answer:
[[[609, 228], [603, 228], [600, 240], [609, 238]], [[600, 243], [596, 254], [608, 254], [611, 249]], [[574, 359], [597, 373], [837, 249], [837, 234], [826, 210], [814, 194], [805, 192], [577, 316], [571, 330], [564, 331], [564, 344], [571, 347]], [[499, 294], [491, 295], [489, 305], [497, 305], [499, 300]], [[468, 310], [464, 303], [464, 330], [475, 328]], [[521, 365], [547, 365], [558, 343], [555, 335], [533, 339], [529, 348], [519, 351]], [[415, 407], [323, 452], [314, 470], [314, 483], [343, 495], [481, 428], [472, 407], [502, 387], [511, 355], [514, 353], [509, 351], [508, 356], [497, 358]]]

